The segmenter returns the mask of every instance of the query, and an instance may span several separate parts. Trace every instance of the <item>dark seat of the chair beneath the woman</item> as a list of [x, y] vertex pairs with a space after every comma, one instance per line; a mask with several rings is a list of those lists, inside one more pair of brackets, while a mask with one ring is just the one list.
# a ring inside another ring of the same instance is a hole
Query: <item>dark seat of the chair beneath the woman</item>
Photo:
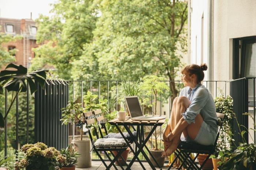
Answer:
[[214, 151], [215, 146], [214, 145], [206, 146], [206, 145], [202, 145], [194, 142], [182, 141], [179, 144], [178, 149], [189, 150], [189, 152], [192, 152], [192, 153], [207, 154], [211, 151]]

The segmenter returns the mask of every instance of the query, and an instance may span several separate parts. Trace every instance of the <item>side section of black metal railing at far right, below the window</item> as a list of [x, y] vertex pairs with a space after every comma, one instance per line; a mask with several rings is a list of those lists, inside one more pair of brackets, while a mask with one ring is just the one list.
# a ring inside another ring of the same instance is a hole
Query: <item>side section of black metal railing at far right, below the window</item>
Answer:
[[[255, 77], [244, 77], [236, 80], [230, 81], [230, 95], [233, 98], [233, 111], [237, 117], [237, 121], [240, 124], [238, 126], [236, 120], [233, 120], [233, 134], [236, 146], [239, 146], [239, 143], [242, 143], [241, 131], [249, 131], [252, 135], [252, 138], [249, 138], [250, 135], [246, 133], [244, 139], [247, 143], [256, 144], [256, 134], [255, 134]], [[243, 113], [249, 113], [252, 116], [248, 117], [243, 115]], [[240, 133], [240, 134], [238, 134]]]

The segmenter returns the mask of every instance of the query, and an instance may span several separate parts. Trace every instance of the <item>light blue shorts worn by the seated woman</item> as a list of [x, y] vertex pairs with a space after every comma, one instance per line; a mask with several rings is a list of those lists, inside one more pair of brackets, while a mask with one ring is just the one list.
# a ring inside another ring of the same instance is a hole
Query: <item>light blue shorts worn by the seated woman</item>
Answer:
[[200, 127], [200, 130], [194, 140], [191, 139], [189, 136], [187, 136], [185, 139], [181, 139], [181, 141], [195, 142], [195, 143], [208, 146], [208, 145], [214, 144], [216, 136], [217, 136], [217, 132], [215, 132], [210, 125], [205, 123], [205, 121], [203, 121]]

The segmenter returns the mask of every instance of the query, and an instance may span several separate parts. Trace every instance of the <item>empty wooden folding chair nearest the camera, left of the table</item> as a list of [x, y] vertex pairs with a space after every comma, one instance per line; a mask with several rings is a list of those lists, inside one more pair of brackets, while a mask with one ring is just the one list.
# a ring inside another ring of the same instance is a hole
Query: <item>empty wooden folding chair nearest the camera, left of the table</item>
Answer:
[[[88, 133], [89, 133], [89, 136], [90, 136], [90, 140], [91, 140], [91, 144], [92, 144], [93, 151], [95, 151], [95, 153], [98, 155], [99, 159], [101, 159], [101, 161], [102, 161], [102, 163], [105, 165], [106, 169], [110, 169], [110, 167], [114, 166], [114, 168], [117, 170], [116, 165], [114, 165], [114, 162], [117, 161], [117, 162], [119, 163], [121, 169], [124, 170], [123, 166], [122, 166], [121, 163], [118, 161], [118, 158], [121, 157], [121, 158], [123, 159], [123, 161], [124, 161], [124, 158], [121, 156], [121, 154], [122, 154], [123, 151], [125, 151], [125, 150], [127, 149], [128, 145], [126, 145], [126, 146], [115, 146], [115, 145], [113, 144], [113, 146], [100, 146], [100, 147], [95, 146], [94, 143], [95, 143], [98, 139], [101, 139], [101, 138], [99, 138], [98, 134], [96, 133], [96, 134], [97, 134], [97, 135], [96, 135], [97, 140], [94, 141], [93, 136], [92, 136], [92, 134], [91, 134], [91, 132], [90, 132], [90, 128], [95, 128], [95, 126], [94, 126], [95, 119], [97, 120], [97, 123], [98, 123], [98, 121], [103, 120], [103, 116], [94, 117], [94, 116], [93, 116], [93, 113], [92, 113], [91, 111], [86, 112], [86, 113], [83, 113], [83, 116], [85, 117], [85, 124], [86, 124], [86, 128], [88, 129]], [[92, 118], [92, 117], [93, 117], [93, 118]], [[106, 130], [106, 128], [105, 128], [105, 130]], [[100, 132], [100, 134], [102, 135], [101, 128], [99, 128], [99, 132]], [[103, 135], [102, 135], [102, 136], [103, 136]], [[109, 165], [107, 165], [107, 164], [105, 163], [104, 159], [103, 159], [103, 158], [101, 157], [101, 155], [99, 154], [99, 152], [101, 152], [101, 151], [103, 151], [103, 152], [105, 153], [106, 157], [109, 159], [109, 161], [110, 161], [110, 164], [109, 164]], [[109, 152], [112, 154], [112, 156], [114, 157], [113, 160], [109, 157], [108, 151], [109, 151]], [[114, 155], [112, 151], [116, 151], [116, 152], [117, 152], [117, 155]], [[124, 161], [124, 162], [125, 162], [125, 161]], [[126, 164], [126, 166], [128, 166], [126, 162], [125, 162], [125, 164]]]

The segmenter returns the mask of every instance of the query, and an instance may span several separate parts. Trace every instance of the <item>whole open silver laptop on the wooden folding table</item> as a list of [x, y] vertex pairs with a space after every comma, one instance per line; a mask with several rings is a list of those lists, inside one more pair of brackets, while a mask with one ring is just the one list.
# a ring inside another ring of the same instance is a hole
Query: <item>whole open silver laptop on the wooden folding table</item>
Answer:
[[127, 109], [130, 112], [132, 120], [161, 120], [166, 118], [160, 116], [143, 115], [137, 96], [126, 96], [125, 101], [127, 103]]

